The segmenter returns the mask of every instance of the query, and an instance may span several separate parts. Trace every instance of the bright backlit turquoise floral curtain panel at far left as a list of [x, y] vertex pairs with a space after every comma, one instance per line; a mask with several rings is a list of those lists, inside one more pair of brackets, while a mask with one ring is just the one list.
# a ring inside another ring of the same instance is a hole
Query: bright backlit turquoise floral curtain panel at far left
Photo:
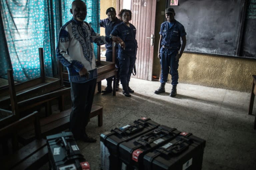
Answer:
[[14, 80], [40, 76], [39, 47], [44, 48], [46, 76], [52, 76], [47, 1], [1, 0], [1, 14]]

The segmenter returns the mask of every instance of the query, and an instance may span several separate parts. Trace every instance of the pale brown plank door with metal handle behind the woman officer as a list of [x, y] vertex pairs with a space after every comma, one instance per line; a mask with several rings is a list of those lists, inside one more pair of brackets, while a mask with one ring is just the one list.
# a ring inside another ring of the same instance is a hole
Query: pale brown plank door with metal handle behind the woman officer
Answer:
[[127, 1], [130, 1], [131, 24], [137, 29], [136, 40], [139, 47], [135, 63], [137, 74], [132, 77], [152, 80], [157, 0], [117, 0], [117, 11], [123, 9], [124, 1], [126, 9], [129, 9], [127, 8]]

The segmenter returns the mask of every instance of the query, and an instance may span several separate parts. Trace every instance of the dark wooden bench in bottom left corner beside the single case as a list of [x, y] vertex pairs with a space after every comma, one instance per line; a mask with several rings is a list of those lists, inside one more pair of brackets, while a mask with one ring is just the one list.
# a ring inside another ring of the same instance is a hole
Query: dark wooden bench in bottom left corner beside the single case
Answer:
[[[34, 124], [36, 139], [19, 148], [18, 131], [25, 125]], [[0, 129], [0, 138], [3, 142], [3, 158], [0, 160], [1, 169], [38, 169], [48, 162], [48, 148], [45, 139], [41, 139], [40, 122], [38, 112], [34, 112], [12, 124]], [[12, 151], [8, 149], [8, 139], [11, 139]], [[7, 144], [7, 145], [6, 145]]]

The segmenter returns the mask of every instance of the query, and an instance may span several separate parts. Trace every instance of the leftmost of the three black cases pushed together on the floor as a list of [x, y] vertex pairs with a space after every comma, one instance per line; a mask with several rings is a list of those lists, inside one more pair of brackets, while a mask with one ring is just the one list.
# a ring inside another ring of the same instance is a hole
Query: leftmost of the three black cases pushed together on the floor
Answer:
[[121, 128], [112, 129], [100, 135], [102, 170], [119, 170], [119, 145], [160, 126], [149, 118], [141, 118]]

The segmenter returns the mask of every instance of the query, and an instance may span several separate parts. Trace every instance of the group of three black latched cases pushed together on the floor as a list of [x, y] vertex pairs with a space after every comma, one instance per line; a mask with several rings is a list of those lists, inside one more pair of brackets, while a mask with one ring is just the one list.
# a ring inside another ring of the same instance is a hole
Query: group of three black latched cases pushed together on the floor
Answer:
[[[148, 127], [127, 133], [138, 122], [147, 122]], [[140, 119], [101, 134], [101, 169], [200, 170], [205, 143], [192, 133]]]

